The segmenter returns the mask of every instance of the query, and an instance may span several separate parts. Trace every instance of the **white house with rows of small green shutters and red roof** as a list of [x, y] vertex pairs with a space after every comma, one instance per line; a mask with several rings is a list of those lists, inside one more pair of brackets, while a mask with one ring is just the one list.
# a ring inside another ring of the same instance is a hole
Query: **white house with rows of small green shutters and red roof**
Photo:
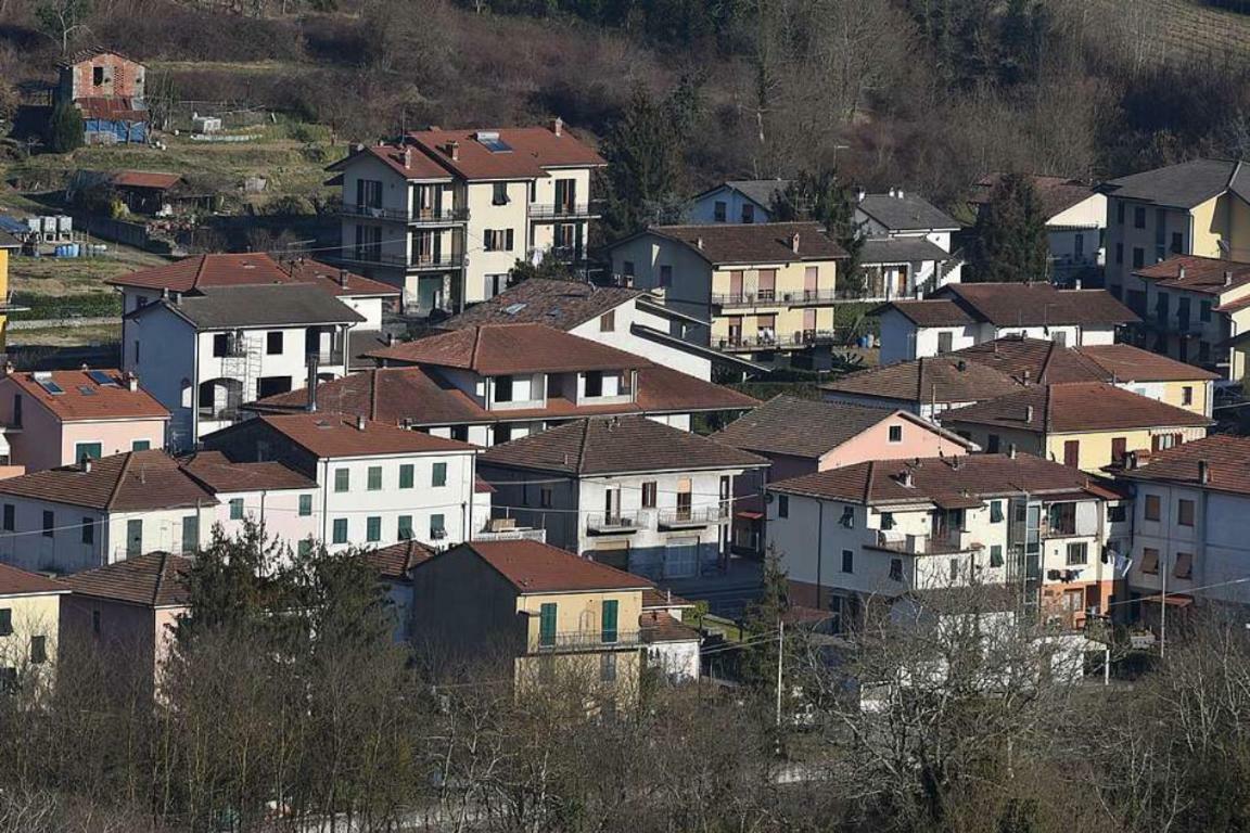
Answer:
[[486, 518], [478, 500], [478, 448], [362, 417], [266, 415], [204, 438], [226, 458], [281, 463], [316, 483], [305, 516], [328, 550], [418, 541], [469, 541]]

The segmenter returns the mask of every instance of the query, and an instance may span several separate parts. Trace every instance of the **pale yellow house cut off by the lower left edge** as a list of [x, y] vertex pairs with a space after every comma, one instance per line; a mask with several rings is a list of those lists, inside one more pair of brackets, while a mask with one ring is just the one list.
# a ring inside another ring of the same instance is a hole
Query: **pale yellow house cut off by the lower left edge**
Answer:
[[59, 581], [0, 564], [0, 692], [51, 678], [69, 592]]

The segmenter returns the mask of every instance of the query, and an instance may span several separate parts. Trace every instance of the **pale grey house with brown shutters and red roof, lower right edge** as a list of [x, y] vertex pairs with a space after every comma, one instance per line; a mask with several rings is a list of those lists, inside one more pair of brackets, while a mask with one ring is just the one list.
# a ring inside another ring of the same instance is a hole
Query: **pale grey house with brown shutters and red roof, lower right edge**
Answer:
[[1250, 603], [1250, 440], [1216, 435], [1118, 472], [1131, 486], [1132, 552], [1128, 563], [1136, 618], [1158, 626], [1164, 608]]

